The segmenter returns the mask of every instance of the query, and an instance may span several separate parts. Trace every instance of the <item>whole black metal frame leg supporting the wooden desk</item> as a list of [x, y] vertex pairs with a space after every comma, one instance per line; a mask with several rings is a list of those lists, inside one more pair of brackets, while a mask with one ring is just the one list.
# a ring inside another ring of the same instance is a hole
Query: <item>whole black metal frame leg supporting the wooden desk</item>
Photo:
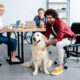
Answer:
[[[8, 57], [9, 60], [8, 62], [10, 64], [17, 64], [17, 63], [23, 63], [24, 62], [24, 52], [23, 52], [23, 32], [21, 32], [21, 38], [19, 38], [19, 32], [18, 34], [18, 58], [21, 60], [20, 62], [12, 62], [11, 61], [11, 41], [10, 41], [10, 32], [7, 33], [7, 37], [8, 37]], [[20, 39], [21, 39], [21, 45], [20, 43]], [[21, 54], [20, 54], [21, 52]], [[21, 56], [21, 57], [20, 57]]]

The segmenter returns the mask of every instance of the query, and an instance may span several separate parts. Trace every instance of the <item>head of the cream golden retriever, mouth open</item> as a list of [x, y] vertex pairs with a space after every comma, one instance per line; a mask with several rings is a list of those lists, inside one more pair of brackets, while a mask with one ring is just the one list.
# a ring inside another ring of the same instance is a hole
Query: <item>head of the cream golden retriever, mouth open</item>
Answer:
[[38, 43], [45, 43], [47, 40], [47, 38], [40, 32], [36, 32], [34, 33], [33, 37], [32, 37], [32, 42], [34, 45], [38, 44]]

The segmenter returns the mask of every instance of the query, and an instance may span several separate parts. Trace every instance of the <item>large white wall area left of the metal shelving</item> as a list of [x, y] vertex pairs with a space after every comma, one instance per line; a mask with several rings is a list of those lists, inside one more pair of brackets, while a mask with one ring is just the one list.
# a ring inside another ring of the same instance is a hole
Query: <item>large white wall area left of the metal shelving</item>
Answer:
[[33, 20], [39, 8], [46, 8], [46, 0], [0, 0], [5, 5], [4, 24], [17, 20]]

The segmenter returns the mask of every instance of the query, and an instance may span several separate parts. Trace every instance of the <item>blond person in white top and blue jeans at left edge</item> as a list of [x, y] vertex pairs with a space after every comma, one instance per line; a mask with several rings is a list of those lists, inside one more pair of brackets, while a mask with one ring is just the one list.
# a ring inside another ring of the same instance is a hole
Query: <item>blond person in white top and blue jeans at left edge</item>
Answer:
[[[3, 36], [3, 30], [7, 29], [8, 26], [3, 26], [1, 16], [4, 14], [4, 5], [0, 4], [0, 43], [8, 44], [8, 38]], [[12, 54], [12, 61], [19, 61], [17, 58], [15, 58], [16, 55], [16, 47], [17, 47], [17, 41], [15, 39], [11, 38], [11, 54]]]

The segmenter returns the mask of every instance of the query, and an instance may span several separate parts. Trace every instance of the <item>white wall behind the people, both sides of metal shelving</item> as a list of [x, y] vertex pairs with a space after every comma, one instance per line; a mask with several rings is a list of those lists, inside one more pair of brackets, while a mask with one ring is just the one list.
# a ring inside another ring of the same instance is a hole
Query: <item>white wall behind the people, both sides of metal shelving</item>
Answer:
[[[5, 5], [4, 24], [15, 23], [16, 20], [33, 20], [38, 8], [46, 9], [47, 0], [0, 0]], [[80, 22], [80, 0], [70, 0], [70, 24]]]

